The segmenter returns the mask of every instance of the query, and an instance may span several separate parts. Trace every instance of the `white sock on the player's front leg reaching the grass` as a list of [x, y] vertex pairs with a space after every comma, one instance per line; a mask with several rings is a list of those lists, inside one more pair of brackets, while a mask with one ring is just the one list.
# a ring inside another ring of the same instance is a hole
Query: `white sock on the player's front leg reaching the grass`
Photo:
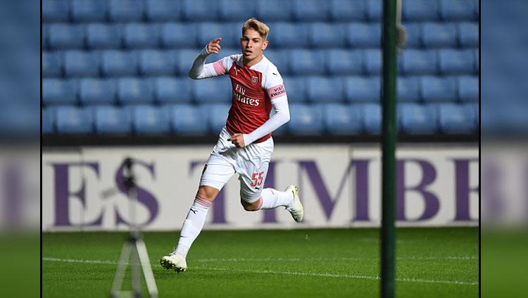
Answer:
[[180, 231], [180, 240], [178, 240], [178, 246], [176, 252], [187, 257], [187, 253], [191, 248], [192, 242], [198, 237], [203, 228], [203, 224], [206, 223], [207, 211], [211, 206], [211, 202], [200, 197], [194, 199], [187, 218], [183, 222], [182, 230]]

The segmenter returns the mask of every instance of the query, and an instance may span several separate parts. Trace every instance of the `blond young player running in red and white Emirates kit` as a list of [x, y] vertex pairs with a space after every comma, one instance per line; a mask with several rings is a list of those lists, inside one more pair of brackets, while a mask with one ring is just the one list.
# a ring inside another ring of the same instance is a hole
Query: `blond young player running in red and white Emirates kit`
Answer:
[[[277, 67], [263, 56], [268, 46], [268, 32], [267, 25], [251, 18], [242, 27], [240, 45], [243, 54], [205, 64], [209, 54], [220, 53], [219, 37], [207, 44], [189, 70], [189, 77], [194, 80], [229, 75], [232, 104], [225, 128], [203, 168], [200, 186], [183, 223], [177, 247], [161, 258], [163, 268], [187, 269], [187, 252], [203, 228], [207, 211], [234, 173], [239, 173], [240, 199], [246, 211], [284, 206], [295, 221], [303, 221], [304, 209], [295, 185], [290, 185], [284, 192], [263, 189], [273, 153], [271, 132], [289, 121], [282, 77]], [[272, 106], [277, 113], [270, 118]]]

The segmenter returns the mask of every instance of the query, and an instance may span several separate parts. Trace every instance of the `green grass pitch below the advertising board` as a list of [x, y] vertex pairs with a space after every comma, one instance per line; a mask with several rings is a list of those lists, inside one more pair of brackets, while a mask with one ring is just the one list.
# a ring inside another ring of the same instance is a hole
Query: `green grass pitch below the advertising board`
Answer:
[[[160, 297], [379, 297], [377, 229], [206, 230], [184, 273], [158, 263], [178, 235], [144, 234]], [[108, 297], [126, 236], [43, 233], [44, 297]], [[477, 297], [478, 237], [478, 228], [398, 228], [396, 296]]]

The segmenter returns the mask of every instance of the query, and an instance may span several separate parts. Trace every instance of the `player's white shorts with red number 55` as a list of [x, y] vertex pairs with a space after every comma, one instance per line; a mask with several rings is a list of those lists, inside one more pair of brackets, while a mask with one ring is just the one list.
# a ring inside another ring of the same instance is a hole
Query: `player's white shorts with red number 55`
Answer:
[[234, 173], [239, 173], [240, 198], [248, 203], [258, 200], [263, 190], [268, 166], [273, 154], [273, 139], [237, 148], [229, 139], [230, 133], [222, 128], [200, 179], [200, 185], [222, 190]]

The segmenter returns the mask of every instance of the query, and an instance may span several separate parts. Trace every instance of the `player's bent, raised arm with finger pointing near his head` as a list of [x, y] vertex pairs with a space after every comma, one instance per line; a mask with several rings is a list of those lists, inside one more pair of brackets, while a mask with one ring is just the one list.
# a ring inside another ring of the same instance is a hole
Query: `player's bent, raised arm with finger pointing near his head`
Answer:
[[205, 79], [207, 77], [215, 77], [218, 75], [225, 75], [227, 70], [225, 68], [225, 58], [216, 61], [215, 63], [207, 63], [206, 58], [211, 53], [218, 54], [220, 53], [220, 41], [221, 37], [213, 39], [208, 42], [207, 46], [204, 47], [200, 54], [194, 59], [191, 70], [189, 70], [189, 77], [193, 80]]

